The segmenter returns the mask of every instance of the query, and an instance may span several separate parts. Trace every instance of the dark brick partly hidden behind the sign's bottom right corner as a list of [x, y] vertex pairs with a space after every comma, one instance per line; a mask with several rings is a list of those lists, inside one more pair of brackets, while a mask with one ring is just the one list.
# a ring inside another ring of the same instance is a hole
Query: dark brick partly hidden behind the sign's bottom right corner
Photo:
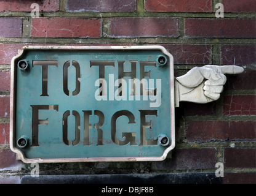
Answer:
[[156, 170], [197, 170], [215, 168], [214, 148], [175, 148], [172, 158], [153, 162]]

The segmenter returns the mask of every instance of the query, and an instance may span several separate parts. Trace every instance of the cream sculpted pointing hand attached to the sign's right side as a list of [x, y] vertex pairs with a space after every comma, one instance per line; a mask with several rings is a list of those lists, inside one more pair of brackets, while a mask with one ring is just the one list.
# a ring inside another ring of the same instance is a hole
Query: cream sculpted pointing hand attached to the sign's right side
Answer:
[[193, 67], [175, 80], [175, 107], [181, 101], [205, 104], [217, 100], [226, 83], [224, 74], [241, 74], [243, 71], [239, 66]]

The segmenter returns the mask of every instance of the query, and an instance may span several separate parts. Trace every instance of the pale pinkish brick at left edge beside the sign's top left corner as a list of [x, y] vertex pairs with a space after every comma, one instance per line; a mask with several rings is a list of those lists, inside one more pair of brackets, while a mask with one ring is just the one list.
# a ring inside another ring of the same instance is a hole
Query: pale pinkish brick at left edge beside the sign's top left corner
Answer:
[[0, 64], [10, 65], [12, 58], [18, 54], [24, 45], [22, 44], [0, 44]]

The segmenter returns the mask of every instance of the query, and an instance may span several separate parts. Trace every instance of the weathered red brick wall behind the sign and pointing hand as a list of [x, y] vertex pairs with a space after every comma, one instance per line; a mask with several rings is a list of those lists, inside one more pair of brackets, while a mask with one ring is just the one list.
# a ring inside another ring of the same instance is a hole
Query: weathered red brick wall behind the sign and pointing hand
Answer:
[[[216, 18], [222, 2], [224, 18]], [[30, 5], [39, 4], [39, 18]], [[10, 60], [23, 45], [162, 45], [175, 77], [194, 66], [235, 64], [219, 100], [175, 109], [176, 147], [162, 162], [40, 164], [40, 175], [215, 172], [223, 183], [256, 183], [255, 0], [27, 0], [0, 2], [0, 183], [31, 165], [9, 148]]]

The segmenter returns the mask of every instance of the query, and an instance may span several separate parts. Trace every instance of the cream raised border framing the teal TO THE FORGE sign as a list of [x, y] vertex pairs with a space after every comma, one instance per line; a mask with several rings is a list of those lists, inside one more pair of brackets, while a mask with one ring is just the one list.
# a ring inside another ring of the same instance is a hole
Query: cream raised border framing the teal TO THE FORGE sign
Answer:
[[[166, 148], [161, 157], [84, 157], [84, 158], [57, 158], [57, 159], [28, 159], [20, 149], [14, 147], [15, 143], [15, 59], [22, 56], [25, 50], [161, 50], [170, 59], [170, 131], [171, 145]], [[11, 62], [11, 81], [10, 81], [10, 149], [17, 153], [17, 157], [25, 163], [57, 163], [57, 162], [131, 162], [131, 161], [161, 161], [166, 159], [167, 154], [175, 148], [175, 98], [174, 98], [174, 58], [160, 45], [146, 46], [25, 46], [19, 51], [18, 55], [12, 58]]]

